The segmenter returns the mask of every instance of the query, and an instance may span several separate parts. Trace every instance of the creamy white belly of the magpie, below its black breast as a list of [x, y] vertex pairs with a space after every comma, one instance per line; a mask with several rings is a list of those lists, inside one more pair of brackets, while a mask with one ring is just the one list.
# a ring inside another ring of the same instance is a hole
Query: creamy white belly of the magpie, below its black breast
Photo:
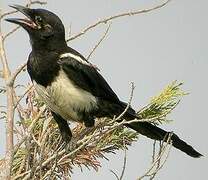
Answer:
[[46, 105], [65, 120], [82, 121], [79, 112], [90, 112], [97, 108], [97, 100], [89, 92], [76, 87], [63, 70], [45, 88], [33, 81], [35, 89]]

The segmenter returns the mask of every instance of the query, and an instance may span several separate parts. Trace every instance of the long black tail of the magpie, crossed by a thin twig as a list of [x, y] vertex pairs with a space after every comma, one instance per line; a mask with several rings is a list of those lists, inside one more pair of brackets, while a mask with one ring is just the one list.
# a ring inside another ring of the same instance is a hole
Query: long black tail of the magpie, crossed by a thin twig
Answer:
[[[131, 124], [126, 124], [126, 126], [134, 129], [135, 131], [137, 131], [138, 133], [144, 136], [147, 136], [148, 138], [159, 141], [162, 140], [167, 141], [167, 138], [165, 139], [165, 137], [168, 137], [167, 133], [170, 133], [148, 122], [134, 122]], [[202, 154], [200, 154], [193, 147], [191, 147], [186, 142], [181, 140], [176, 134], [172, 134], [171, 140], [172, 140], [172, 145], [175, 148], [180, 149], [189, 156], [194, 158], [198, 158], [202, 156]]]

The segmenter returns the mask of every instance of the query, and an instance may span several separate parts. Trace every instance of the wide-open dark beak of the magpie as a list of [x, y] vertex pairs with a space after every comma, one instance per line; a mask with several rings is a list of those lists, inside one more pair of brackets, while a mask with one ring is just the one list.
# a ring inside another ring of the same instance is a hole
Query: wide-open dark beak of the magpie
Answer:
[[36, 29], [37, 28], [37, 25], [33, 21], [32, 9], [24, 7], [24, 6], [20, 6], [20, 5], [10, 5], [10, 7], [14, 8], [17, 11], [24, 14], [27, 17], [27, 19], [8, 18], [8, 19], [5, 19], [6, 21], [18, 24], [18, 25], [22, 26], [25, 29], [27, 29], [27, 28]]

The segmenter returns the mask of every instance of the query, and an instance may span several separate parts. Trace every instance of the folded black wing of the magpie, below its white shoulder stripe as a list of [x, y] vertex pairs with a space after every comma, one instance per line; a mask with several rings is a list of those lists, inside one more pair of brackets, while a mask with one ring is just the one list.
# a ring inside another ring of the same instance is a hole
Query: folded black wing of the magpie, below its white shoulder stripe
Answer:
[[68, 78], [78, 87], [90, 92], [97, 98], [118, 103], [119, 98], [113, 92], [105, 79], [97, 72], [96, 68], [88, 63], [82, 56], [83, 62], [75, 57], [61, 58], [58, 63], [61, 65]]

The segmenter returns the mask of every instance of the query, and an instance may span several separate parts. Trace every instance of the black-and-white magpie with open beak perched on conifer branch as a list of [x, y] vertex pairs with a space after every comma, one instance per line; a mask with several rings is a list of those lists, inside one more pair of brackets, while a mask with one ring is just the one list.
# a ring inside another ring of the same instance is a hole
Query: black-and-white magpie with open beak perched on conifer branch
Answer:
[[[95, 118], [113, 118], [126, 109], [127, 104], [120, 101], [97, 69], [79, 52], [67, 46], [64, 25], [56, 14], [20, 5], [11, 7], [26, 16], [23, 19], [6, 20], [20, 25], [29, 34], [32, 51], [27, 71], [37, 94], [49, 107], [66, 143], [70, 143], [72, 139], [67, 121], [93, 127]], [[127, 121], [139, 119], [131, 107], [123, 118]], [[165, 137], [171, 133], [149, 122], [133, 122], [125, 126], [158, 141], [167, 141]], [[175, 148], [189, 156], [202, 156], [176, 134], [172, 134], [171, 140]]]

